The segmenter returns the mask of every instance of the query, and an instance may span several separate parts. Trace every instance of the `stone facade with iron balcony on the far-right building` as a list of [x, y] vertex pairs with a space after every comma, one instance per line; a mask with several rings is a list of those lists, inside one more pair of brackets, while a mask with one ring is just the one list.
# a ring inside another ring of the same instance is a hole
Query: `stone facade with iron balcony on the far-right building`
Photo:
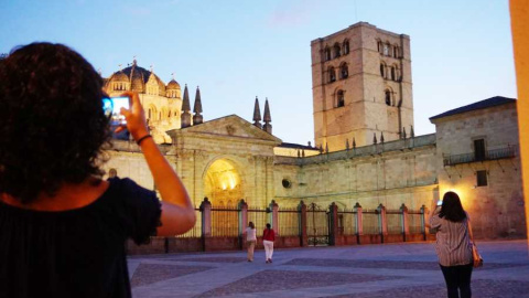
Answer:
[[[436, 130], [440, 192], [452, 190], [460, 194], [475, 223], [476, 236], [525, 235], [516, 100], [432, 123]], [[483, 160], [475, 158], [479, 140], [485, 145]], [[452, 162], [455, 164], [446, 164], [451, 157], [456, 157]], [[486, 185], [479, 185], [479, 172]]]

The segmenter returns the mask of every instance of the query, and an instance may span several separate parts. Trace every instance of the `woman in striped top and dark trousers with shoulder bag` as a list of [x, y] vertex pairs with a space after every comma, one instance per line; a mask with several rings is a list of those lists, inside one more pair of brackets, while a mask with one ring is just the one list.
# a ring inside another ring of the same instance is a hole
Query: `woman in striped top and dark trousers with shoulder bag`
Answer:
[[472, 297], [472, 269], [479, 266], [479, 256], [473, 247], [468, 213], [455, 192], [445, 193], [442, 204], [432, 207], [430, 228], [435, 233], [435, 253], [449, 298]]

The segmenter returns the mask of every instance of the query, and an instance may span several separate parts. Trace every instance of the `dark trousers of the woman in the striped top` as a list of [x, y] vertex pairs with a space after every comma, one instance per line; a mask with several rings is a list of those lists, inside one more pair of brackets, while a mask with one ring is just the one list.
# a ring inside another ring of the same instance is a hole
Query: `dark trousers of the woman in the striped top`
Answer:
[[[439, 265], [441, 266], [441, 265]], [[449, 289], [449, 298], [471, 298], [471, 276], [472, 276], [472, 266], [461, 265], [461, 266], [441, 266], [441, 270], [444, 275], [444, 280], [446, 281], [446, 288]], [[461, 294], [461, 296], [460, 296]]]

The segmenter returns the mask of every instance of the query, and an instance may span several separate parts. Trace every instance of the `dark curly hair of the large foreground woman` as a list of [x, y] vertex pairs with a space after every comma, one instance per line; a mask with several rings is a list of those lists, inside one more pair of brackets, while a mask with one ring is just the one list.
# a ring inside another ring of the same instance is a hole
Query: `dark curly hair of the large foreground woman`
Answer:
[[32, 43], [0, 60], [0, 193], [22, 203], [100, 177], [109, 119], [102, 79], [62, 44]]

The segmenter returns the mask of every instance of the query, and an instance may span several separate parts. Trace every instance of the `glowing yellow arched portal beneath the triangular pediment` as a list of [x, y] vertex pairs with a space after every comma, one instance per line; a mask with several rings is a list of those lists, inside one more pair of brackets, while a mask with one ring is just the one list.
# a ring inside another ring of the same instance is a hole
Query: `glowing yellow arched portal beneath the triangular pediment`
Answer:
[[228, 159], [213, 162], [204, 177], [204, 195], [214, 206], [234, 206], [245, 198], [240, 174]]

